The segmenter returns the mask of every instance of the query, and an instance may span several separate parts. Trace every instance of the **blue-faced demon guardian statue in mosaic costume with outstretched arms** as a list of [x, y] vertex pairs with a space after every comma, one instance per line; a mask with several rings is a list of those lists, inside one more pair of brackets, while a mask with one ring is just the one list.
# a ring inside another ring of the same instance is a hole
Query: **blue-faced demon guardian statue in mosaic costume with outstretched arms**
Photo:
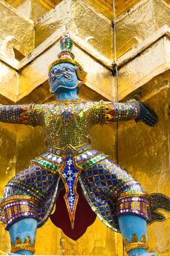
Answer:
[[[169, 199], [147, 195], [130, 174], [107, 155], [93, 150], [89, 130], [94, 124], [132, 118], [152, 127], [156, 116], [136, 99], [127, 103], [82, 101], [78, 92], [86, 75], [74, 60], [72, 39], [66, 34], [61, 39], [61, 53], [49, 68], [50, 87], [56, 101], [42, 105], [0, 105], [0, 121], [41, 125], [47, 132], [47, 152], [32, 159], [26, 169], [9, 181], [1, 200], [1, 221], [9, 230], [14, 254], [34, 254], [36, 229], [45, 224], [62, 195], [64, 206], [57, 206], [58, 213], [65, 207], [72, 230], [79, 225], [75, 216], [83, 197], [82, 201], [86, 199], [83, 202], [95, 216], [122, 233], [128, 255], [153, 255], [147, 253], [147, 224], [164, 219], [154, 211], [169, 210]], [[53, 218], [53, 222], [57, 220]], [[62, 224], [58, 227], [65, 228]]]

